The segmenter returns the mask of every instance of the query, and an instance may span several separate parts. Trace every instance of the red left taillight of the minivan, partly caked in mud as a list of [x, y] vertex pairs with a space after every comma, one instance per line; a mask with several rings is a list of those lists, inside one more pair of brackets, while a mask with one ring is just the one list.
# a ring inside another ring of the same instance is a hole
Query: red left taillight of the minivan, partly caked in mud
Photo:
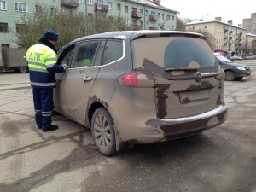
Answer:
[[128, 87], [154, 87], [154, 77], [148, 72], [131, 72], [119, 76], [119, 84]]

